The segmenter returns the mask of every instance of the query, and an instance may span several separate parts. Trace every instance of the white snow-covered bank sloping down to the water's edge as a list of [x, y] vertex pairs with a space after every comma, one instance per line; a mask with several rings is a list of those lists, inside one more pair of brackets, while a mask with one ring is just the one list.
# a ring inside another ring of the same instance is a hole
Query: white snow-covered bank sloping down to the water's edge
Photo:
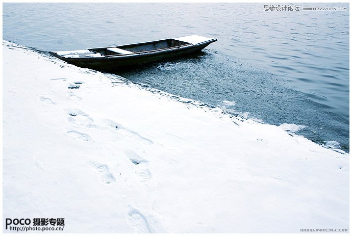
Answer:
[[66, 233], [349, 227], [349, 154], [3, 44], [4, 218], [65, 218]]

